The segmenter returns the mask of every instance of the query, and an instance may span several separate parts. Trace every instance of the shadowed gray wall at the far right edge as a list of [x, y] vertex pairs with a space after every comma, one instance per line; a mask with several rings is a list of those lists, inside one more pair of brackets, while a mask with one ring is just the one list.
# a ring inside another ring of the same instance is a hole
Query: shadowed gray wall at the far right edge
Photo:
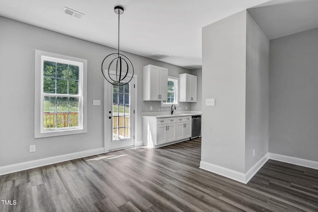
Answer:
[[269, 152], [318, 161], [318, 28], [270, 41]]

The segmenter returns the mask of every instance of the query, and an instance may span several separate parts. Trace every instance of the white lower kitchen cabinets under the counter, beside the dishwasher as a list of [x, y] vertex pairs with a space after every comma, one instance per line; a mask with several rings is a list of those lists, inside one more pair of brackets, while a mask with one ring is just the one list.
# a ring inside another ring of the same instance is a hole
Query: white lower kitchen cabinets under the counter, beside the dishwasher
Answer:
[[143, 142], [152, 146], [191, 137], [191, 116], [153, 118], [143, 117]]

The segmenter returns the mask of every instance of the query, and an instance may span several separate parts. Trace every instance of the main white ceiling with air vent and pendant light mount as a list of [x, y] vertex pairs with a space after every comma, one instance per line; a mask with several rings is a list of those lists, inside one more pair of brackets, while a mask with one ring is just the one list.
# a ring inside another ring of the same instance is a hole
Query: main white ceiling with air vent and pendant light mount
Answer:
[[[0, 0], [0, 15], [187, 69], [200, 68], [201, 28], [269, 0]], [[85, 15], [63, 13], [64, 6]]]

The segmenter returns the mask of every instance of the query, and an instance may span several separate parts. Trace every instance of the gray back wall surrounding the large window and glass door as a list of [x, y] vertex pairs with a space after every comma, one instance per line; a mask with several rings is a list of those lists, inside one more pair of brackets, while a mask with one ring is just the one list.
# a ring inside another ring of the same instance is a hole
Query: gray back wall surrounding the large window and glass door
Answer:
[[[17, 22], [0, 16], [0, 166], [68, 154], [104, 146], [103, 84], [100, 64], [116, 50]], [[86, 59], [87, 133], [34, 139], [34, 50]], [[124, 53], [132, 61], [138, 75], [138, 141], [142, 140], [142, 112], [160, 109], [160, 102], [144, 102], [143, 66], [153, 64], [169, 70], [169, 75], [191, 71], [141, 56]], [[93, 106], [101, 99], [101, 106]], [[190, 104], [184, 103], [183, 107]], [[184, 110], [184, 108], [181, 108]], [[163, 108], [169, 111], [170, 108]], [[29, 153], [29, 145], [36, 152]]]

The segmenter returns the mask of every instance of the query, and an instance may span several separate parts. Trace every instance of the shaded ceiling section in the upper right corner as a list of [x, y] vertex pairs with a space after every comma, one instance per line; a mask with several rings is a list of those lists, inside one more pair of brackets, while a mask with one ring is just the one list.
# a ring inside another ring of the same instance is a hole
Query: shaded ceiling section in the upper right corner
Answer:
[[270, 40], [318, 27], [318, 0], [274, 0], [248, 12]]

